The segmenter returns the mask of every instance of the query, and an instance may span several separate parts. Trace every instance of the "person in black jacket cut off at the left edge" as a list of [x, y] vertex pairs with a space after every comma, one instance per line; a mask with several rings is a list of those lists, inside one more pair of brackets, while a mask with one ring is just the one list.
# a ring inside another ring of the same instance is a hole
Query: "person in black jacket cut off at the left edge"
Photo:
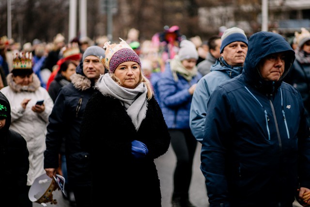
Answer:
[[[0, 193], [3, 207], [24, 207], [27, 203], [27, 173], [29, 152], [25, 139], [10, 130], [11, 108], [8, 99], [0, 92]], [[29, 203], [29, 202], [28, 202]]]

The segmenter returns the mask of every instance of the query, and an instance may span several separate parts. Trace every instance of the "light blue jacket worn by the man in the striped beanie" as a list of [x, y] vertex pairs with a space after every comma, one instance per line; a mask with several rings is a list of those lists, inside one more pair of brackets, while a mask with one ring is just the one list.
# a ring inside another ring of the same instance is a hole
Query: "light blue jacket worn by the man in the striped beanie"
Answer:
[[242, 67], [232, 67], [221, 57], [212, 65], [211, 72], [198, 82], [190, 107], [189, 126], [196, 140], [202, 142], [207, 101], [218, 85], [242, 72]]

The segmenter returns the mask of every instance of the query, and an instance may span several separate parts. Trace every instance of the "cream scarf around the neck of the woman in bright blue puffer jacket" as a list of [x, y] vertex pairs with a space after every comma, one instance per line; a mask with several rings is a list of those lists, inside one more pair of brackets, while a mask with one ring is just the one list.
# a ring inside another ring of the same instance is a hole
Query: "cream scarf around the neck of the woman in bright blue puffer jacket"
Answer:
[[197, 73], [198, 73], [196, 66], [194, 66], [194, 68], [191, 70], [187, 70], [182, 64], [178, 55], [175, 55], [174, 58], [171, 60], [170, 68], [173, 74], [173, 79], [175, 81], [178, 81], [177, 74], [180, 74], [180, 76], [185, 78], [187, 81], [191, 81], [193, 77], [197, 76]]

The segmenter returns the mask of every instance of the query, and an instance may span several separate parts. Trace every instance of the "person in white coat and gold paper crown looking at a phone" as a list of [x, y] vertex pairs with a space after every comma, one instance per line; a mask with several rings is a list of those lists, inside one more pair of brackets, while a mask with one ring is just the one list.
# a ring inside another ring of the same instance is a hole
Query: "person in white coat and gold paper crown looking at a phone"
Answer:
[[[47, 90], [40, 86], [40, 80], [33, 73], [31, 58], [31, 53], [28, 52], [16, 54], [13, 70], [7, 76], [8, 86], [0, 90], [11, 105], [10, 129], [20, 133], [27, 141], [30, 161], [27, 181], [29, 188], [34, 179], [44, 173], [45, 135], [48, 116], [53, 108], [53, 101]], [[44, 100], [44, 103], [37, 105], [36, 102], [40, 100]], [[29, 206], [32, 206], [32, 203]]]

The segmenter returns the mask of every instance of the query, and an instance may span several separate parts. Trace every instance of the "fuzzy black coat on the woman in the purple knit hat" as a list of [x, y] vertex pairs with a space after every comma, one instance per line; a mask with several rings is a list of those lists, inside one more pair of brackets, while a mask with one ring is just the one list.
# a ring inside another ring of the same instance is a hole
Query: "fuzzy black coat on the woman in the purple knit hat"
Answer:
[[[96, 92], [89, 100], [80, 132], [81, 144], [91, 156], [94, 206], [161, 206], [154, 159], [167, 152], [170, 135], [154, 96], [147, 107], [136, 131], [118, 99]], [[133, 157], [133, 140], [146, 144], [145, 158]]]

